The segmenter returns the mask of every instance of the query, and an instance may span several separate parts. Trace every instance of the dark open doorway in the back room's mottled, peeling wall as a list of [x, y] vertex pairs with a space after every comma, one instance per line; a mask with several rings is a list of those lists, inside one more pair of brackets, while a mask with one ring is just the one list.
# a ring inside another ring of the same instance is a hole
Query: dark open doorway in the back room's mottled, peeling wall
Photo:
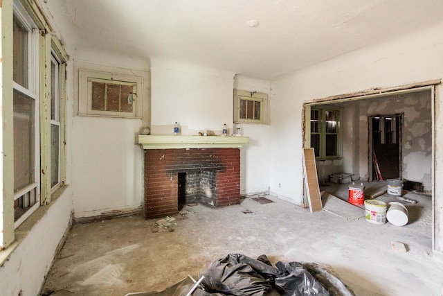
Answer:
[[369, 181], [401, 179], [403, 114], [369, 116]]

